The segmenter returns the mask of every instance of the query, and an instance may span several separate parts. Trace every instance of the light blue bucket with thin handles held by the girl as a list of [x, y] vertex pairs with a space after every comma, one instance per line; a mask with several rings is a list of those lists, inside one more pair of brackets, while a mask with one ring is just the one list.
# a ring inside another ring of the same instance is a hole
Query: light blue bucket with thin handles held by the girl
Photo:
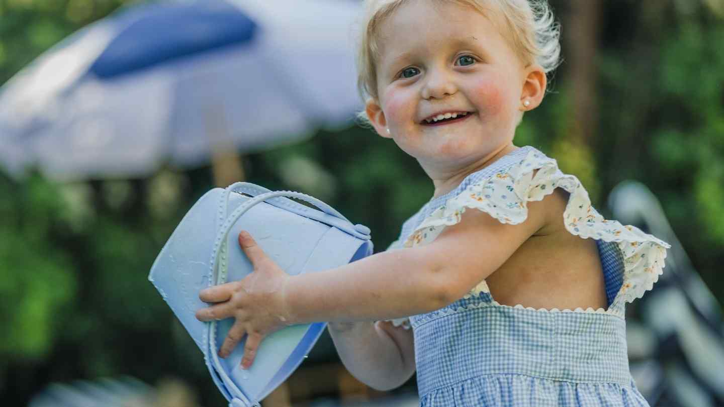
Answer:
[[273, 332], [261, 342], [249, 369], [240, 368], [245, 338], [230, 356], [219, 358], [217, 351], [234, 319], [198, 321], [195, 312], [209, 306], [198, 293], [211, 285], [243, 280], [252, 272], [237, 243], [241, 230], [250, 232], [264, 252], [292, 275], [362, 259], [372, 253], [372, 242], [369, 228], [353, 225], [319, 199], [298, 192], [271, 192], [248, 182], [210, 190], [176, 227], [153, 262], [148, 280], [201, 348], [211, 378], [229, 406], [251, 407], [294, 372], [327, 322]]

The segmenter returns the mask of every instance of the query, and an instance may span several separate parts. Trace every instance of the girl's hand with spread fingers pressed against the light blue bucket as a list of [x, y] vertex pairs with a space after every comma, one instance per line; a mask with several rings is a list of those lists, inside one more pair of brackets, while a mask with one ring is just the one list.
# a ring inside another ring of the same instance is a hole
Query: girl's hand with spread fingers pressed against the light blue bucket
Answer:
[[289, 274], [266, 256], [248, 232], [239, 234], [239, 244], [251, 261], [253, 272], [243, 280], [201, 290], [201, 301], [216, 305], [196, 311], [196, 318], [206, 322], [233, 316], [236, 321], [219, 349], [219, 356], [229, 356], [247, 334], [241, 365], [248, 369], [261, 340], [290, 324], [284, 298]]

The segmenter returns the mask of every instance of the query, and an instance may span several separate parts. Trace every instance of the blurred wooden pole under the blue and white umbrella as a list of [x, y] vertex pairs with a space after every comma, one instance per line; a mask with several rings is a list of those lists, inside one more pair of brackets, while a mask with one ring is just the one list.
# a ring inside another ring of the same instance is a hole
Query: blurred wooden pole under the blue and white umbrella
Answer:
[[206, 135], [211, 145], [214, 185], [219, 188], [244, 180], [242, 159], [231, 140], [223, 113], [222, 105], [214, 104], [207, 106], [204, 114]]

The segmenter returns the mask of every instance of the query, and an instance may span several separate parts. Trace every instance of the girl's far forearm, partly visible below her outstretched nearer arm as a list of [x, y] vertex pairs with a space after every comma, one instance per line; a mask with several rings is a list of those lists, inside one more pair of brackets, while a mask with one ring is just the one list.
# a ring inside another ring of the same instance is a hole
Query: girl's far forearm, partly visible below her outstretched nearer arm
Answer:
[[413, 331], [390, 322], [330, 322], [327, 325], [342, 363], [376, 390], [405, 384], [415, 372]]

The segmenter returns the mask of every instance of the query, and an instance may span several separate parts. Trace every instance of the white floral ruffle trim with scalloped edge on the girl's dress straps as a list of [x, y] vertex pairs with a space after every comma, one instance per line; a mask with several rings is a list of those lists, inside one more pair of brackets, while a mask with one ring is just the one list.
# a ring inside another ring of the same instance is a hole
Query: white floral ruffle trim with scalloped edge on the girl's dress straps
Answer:
[[[484, 211], [502, 223], [517, 225], [528, 216], [528, 202], [541, 201], [555, 188], [570, 193], [563, 213], [568, 232], [581, 238], [618, 244], [625, 270], [617, 296], [631, 302], [651, 290], [662, 274], [666, 249], [670, 245], [631, 225], [604, 219], [592, 206], [588, 192], [578, 178], [561, 172], [555, 159], [534, 148], [520, 162], [449, 198], [413, 230], [404, 246], [409, 248], [432, 242], [445, 227], [460, 222], [467, 209]], [[487, 291], [484, 281], [471, 290], [471, 294], [481, 291]]]

